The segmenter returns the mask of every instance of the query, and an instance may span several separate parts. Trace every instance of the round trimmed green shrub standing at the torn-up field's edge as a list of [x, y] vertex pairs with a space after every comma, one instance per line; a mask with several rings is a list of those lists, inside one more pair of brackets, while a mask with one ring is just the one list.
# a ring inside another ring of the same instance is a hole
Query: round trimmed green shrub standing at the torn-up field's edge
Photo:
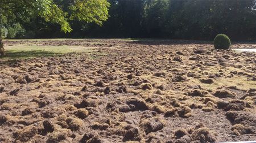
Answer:
[[214, 38], [214, 47], [215, 49], [229, 49], [230, 39], [225, 34], [217, 34]]

